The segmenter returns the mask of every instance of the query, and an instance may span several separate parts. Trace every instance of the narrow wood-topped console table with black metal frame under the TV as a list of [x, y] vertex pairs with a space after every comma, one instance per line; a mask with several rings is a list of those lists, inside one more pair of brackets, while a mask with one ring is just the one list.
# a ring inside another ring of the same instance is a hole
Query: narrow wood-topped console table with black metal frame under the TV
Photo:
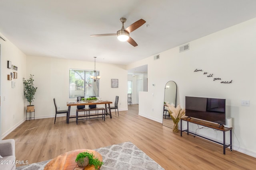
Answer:
[[[187, 122], [187, 129], [186, 130], [182, 130], [182, 121]], [[223, 132], [223, 143], [220, 143], [218, 141], [214, 141], [212, 139], [209, 139], [209, 138], [203, 137], [201, 135], [198, 135], [196, 133], [190, 132], [189, 129], [188, 129], [188, 123], [189, 122], [197, 124], [197, 125], [202, 125], [204, 127], [210, 127], [212, 129], [216, 129], [218, 131], [222, 131]], [[229, 145], [226, 145], [226, 131], [230, 131], [230, 144]], [[187, 135], [190, 133], [190, 134], [193, 134], [194, 136], [202, 137], [202, 138], [207, 139], [209, 141], [212, 141], [212, 142], [218, 143], [220, 145], [223, 145], [223, 154], [226, 154], [225, 151], [226, 151], [226, 148], [228, 148], [228, 147], [230, 147], [230, 151], [232, 151], [232, 127], [231, 128], [226, 128], [224, 126], [220, 127], [216, 123], [211, 123], [211, 122], [207, 122], [207, 121], [203, 121], [203, 120], [199, 120], [199, 119], [194, 119], [194, 118], [191, 118], [191, 117], [183, 117], [183, 118], [180, 119], [180, 136], [181, 137], [182, 137], [182, 132], [187, 132]]]

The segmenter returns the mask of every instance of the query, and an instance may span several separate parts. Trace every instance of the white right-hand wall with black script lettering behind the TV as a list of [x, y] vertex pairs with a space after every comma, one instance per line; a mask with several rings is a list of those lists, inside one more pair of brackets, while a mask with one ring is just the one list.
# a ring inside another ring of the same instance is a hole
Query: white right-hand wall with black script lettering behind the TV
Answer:
[[[185, 96], [225, 98], [227, 117], [233, 118], [233, 149], [256, 157], [255, 30], [256, 18], [189, 42], [189, 51], [179, 53], [176, 47], [160, 53], [159, 60], [154, 61], [151, 56], [129, 64], [127, 69], [148, 64], [148, 92], [141, 93], [139, 114], [162, 122], [164, 86], [169, 80], [177, 84], [177, 104], [182, 107]], [[213, 81], [202, 72], [194, 72], [195, 69], [232, 83]], [[250, 100], [250, 107], [241, 106], [241, 100]], [[190, 126], [195, 132], [197, 126]], [[196, 133], [222, 141], [222, 132], [200, 129]]]

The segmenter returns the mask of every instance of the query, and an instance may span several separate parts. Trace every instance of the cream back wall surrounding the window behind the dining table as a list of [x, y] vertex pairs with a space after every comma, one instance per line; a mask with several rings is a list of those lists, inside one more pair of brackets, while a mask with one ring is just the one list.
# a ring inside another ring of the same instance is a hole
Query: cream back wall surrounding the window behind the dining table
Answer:
[[[53, 98], [60, 109], [67, 109], [66, 102], [74, 101], [69, 98], [69, 69], [94, 70], [94, 62], [56, 59], [49, 57], [27, 57], [27, 77], [34, 74], [34, 84], [38, 87], [35, 100], [36, 118], [54, 117], [55, 107]], [[102, 100], [113, 102], [119, 96], [118, 109], [127, 110], [127, 70], [124, 66], [96, 62], [96, 70], [100, 71], [100, 92]], [[118, 79], [118, 88], [111, 88], [111, 79]], [[76, 107], [71, 107], [75, 113]]]

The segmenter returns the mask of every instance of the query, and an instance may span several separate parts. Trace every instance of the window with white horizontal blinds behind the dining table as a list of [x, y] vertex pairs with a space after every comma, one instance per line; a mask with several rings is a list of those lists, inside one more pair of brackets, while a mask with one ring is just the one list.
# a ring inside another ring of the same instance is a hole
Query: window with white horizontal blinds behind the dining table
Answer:
[[[99, 76], [100, 72], [96, 71], [96, 76]], [[99, 80], [92, 80], [90, 76], [94, 76], [92, 70], [69, 70], [69, 98], [76, 98], [78, 96], [84, 96], [89, 98], [90, 96], [99, 96]]]

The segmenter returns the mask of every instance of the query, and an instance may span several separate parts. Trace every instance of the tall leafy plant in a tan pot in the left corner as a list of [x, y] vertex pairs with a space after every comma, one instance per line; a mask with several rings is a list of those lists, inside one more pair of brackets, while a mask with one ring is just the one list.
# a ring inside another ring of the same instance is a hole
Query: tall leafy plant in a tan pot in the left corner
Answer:
[[27, 112], [34, 111], [34, 105], [31, 105], [31, 103], [34, 101], [34, 96], [36, 94], [37, 87], [34, 87], [34, 79], [32, 74], [30, 74], [30, 77], [28, 80], [25, 80], [23, 78], [23, 84], [24, 84], [24, 96], [26, 100], [29, 102], [29, 106], [27, 106]]

